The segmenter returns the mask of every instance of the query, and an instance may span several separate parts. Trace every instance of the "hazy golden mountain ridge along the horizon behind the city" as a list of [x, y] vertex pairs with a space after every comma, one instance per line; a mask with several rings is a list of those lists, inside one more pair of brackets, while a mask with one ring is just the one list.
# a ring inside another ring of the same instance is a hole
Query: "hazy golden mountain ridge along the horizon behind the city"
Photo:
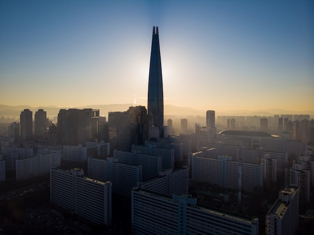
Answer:
[[[19, 119], [21, 111], [24, 109], [30, 109], [33, 111], [33, 115], [38, 109], [44, 109], [47, 112], [47, 117], [51, 119], [58, 116], [60, 109], [69, 109], [69, 108], [92, 108], [99, 109], [100, 116], [108, 117], [108, 112], [122, 112], [128, 110], [133, 104], [104, 104], [104, 105], [87, 105], [80, 107], [56, 107], [56, 106], [40, 106], [32, 107], [29, 105], [19, 105], [19, 106], [10, 106], [10, 105], [1, 105], [0, 104], [0, 116], [7, 118], [16, 117]], [[216, 111], [217, 116], [273, 116], [275, 114], [309, 114], [311, 118], [314, 118], [314, 110], [309, 111], [293, 111], [293, 110], [283, 110], [283, 109], [265, 109], [265, 110], [230, 110], [230, 111]], [[178, 107], [175, 105], [165, 105], [164, 106], [164, 115], [165, 116], [206, 116], [206, 110], [195, 109], [191, 107]]]

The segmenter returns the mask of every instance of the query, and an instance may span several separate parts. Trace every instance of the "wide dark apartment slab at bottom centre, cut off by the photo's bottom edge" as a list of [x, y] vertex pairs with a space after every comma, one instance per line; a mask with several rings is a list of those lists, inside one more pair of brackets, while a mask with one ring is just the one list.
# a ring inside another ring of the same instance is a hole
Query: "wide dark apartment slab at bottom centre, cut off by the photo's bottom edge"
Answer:
[[132, 190], [133, 234], [258, 234], [258, 218], [197, 204], [189, 194]]

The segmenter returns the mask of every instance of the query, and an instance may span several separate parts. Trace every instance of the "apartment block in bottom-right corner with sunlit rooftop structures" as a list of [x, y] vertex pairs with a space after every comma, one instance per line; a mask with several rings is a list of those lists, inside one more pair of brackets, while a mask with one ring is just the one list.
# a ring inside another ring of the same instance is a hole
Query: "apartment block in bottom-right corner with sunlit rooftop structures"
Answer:
[[265, 216], [265, 233], [295, 234], [299, 216], [299, 189], [286, 186], [279, 192], [279, 198], [272, 205]]

